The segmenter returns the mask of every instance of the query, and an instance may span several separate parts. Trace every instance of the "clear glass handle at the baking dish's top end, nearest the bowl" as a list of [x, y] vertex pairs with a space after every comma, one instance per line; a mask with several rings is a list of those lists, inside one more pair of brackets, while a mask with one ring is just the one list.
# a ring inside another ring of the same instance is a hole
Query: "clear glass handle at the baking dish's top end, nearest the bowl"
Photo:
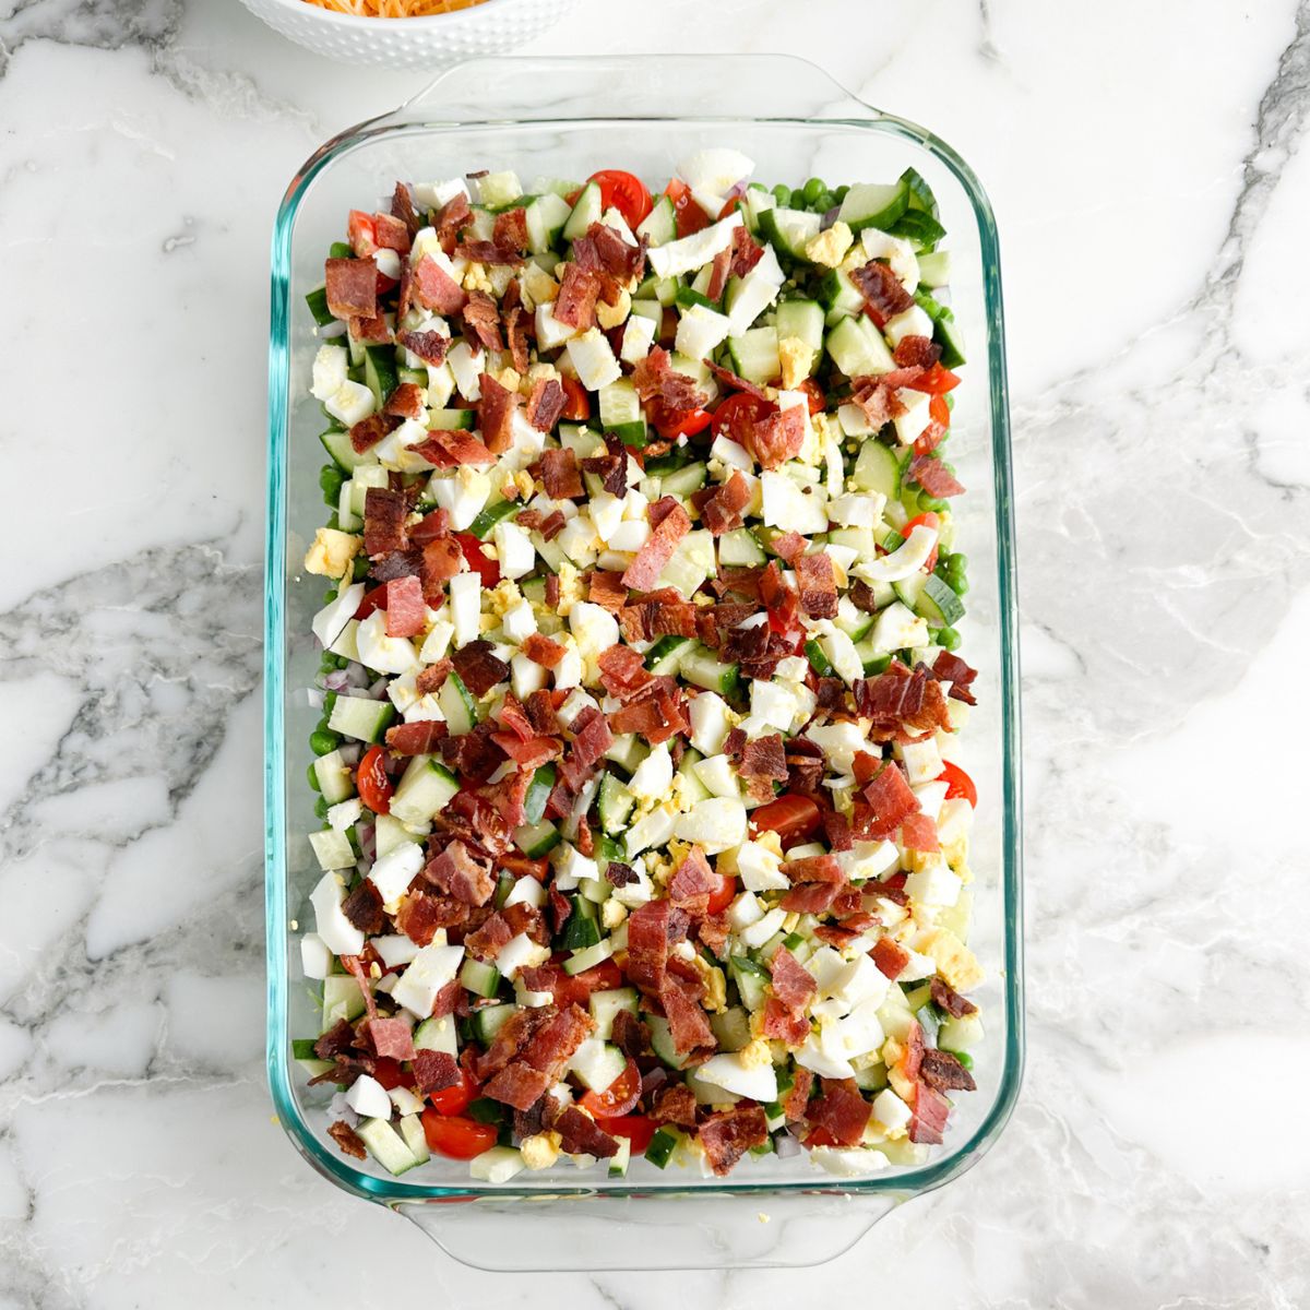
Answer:
[[579, 117], [867, 123], [884, 115], [821, 68], [794, 55], [600, 55], [457, 64], [375, 124], [435, 126], [502, 118], [563, 122]]

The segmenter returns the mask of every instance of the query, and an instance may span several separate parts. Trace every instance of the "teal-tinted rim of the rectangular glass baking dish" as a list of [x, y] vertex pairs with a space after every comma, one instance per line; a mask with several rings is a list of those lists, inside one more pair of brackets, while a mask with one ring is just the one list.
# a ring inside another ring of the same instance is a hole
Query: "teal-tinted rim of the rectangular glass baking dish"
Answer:
[[[531, 72], [533, 67], [578, 67], [601, 64], [656, 64], [667, 60], [686, 62], [685, 55], [584, 55], [584, 56], [520, 56], [486, 60], [503, 71], [507, 62]], [[694, 56], [693, 56], [694, 58]], [[858, 106], [870, 117], [836, 114], [821, 118], [799, 118], [791, 114], [757, 115], [724, 114], [726, 123], [795, 124], [814, 127], [846, 127], [886, 132], [909, 140], [934, 155], [956, 178], [968, 196], [979, 225], [982, 259], [984, 310], [988, 320], [988, 381], [990, 398], [992, 473], [996, 493], [996, 542], [1000, 627], [998, 684], [1001, 693], [1001, 762], [1002, 762], [1002, 870], [998, 891], [1002, 896], [1005, 924], [1002, 941], [1003, 1003], [1006, 1013], [1006, 1053], [1001, 1069], [1001, 1082], [996, 1099], [982, 1121], [971, 1136], [956, 1144], [939, 1159], [914, 1169], [886, 1175], [853, 1179], [814, 1179], [812, 1182], [744, 1182], [696, 1180], [668, 1184], [643, 1183], [639, 1186], [576, 1186], [553, 1179], [542, 1188], [514, 1186], [436, 1186], [407, 1183], [403, 1178], [376, 1178], [355, 1169], [339, 1153], [334, 1154], [309, 1131], [300, 1115], [288, 1077], [286, 1058], [287, 1032], [287, 870], [286, 870], [286, 814], [282, 794], [284, 778], [284, 735], [282, 709], [284, 698], [283, 650], [286, 641], [286, 614], [282, 592], [286, 586], [286, 512], [283, 508], [283, 476], [286, 472], [288, 407], [287, 385], [290, 371], [290, 305], [292, 229], [310, 183], [328, 165], [341, 156], [367, 144], [369, 140], [393, 131], [434, 128], [485, 127], [512, 131], [517, 127], [584, 126], [614, 122], [642, 123], [703, 123], [715, 121], [713, 114], [600, 114], [574, 113], [538, 117], [470, 117], [447, 118], [426, 114], [406, 118], [413, 107], [423, 105], [427, 97], [452, 71], [439, 75], [417, 96], [396, 110], [364, 119], [326, 140], [300, 166], [292, 177], [278, 210], [271, 242], [271, 310], [269, 337], [269, 431], [267, 431], [267, 495], [269, 517], [265, 572], [265, 914], [267, 935], [267, 1044], [266, 1066], [274, 1108], [283, 1131], [309, 1163], [338, 1187], [368, 1200], [388, 1205], [424, 1201], [490, 1200], [490, 1199], [545, 1199], [599, 1197], [621, 1200], [625, 1197], [667, 1196], [752, 1196], [766, 1193], [850, 1193], [883, 1195], [888, 1197], [917, 1196], [933, 1191], [971, 1169], [992, 1148], [1009, 1121], [1023, 1079], [1024, 1065], [1024, 1013], [1023, 1013], [1023, 897], [1022, 897], [1022, 787], [1020, 787], [1020, 719], [1019, 719], [1019, 658], [1018, 613], [1015, 580], [1015, 546], [1013, 516], [1013, 477], [1010, 455], [1009, 389], [1005, 358], [1005, 317], [1001, 297], [1000, 242], [990, 202], [981, 183], [963, 157], [941, 138], [918, 124], [887, 114], [836, 81], [825, 69], [794, 55], [715, 55], [717, 66], [724, 59], [736, 66], [786, 59], [803, 68], [810, 77], [821, 79], [832, 88], [833, 98]], [[458, 66], [460, 75], [483, 60], [470, 60]]]

